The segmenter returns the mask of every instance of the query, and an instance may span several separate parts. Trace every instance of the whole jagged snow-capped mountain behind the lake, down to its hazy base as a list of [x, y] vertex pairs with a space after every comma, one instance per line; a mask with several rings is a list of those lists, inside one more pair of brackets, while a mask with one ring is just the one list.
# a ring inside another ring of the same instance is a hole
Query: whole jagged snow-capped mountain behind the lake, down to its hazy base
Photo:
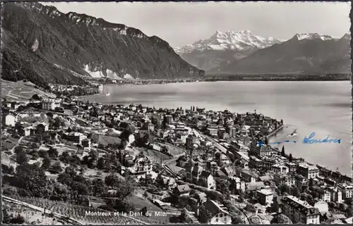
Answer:
[[208, 39], [174, 48], [174, 51], [192, 65], [211, 70], [281, 42], [283, 41], [273, 37], [260, 37], [249, 30], [217, 31]]

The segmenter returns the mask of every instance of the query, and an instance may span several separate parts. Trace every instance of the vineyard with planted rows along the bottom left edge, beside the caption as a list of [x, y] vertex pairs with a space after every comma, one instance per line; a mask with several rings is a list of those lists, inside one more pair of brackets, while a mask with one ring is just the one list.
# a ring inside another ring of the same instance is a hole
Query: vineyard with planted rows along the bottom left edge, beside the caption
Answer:
[[84, 224], [107, 224], [107, 225], [145, 225], [145, 224], [158, 224], [157, 220], [147, 217], [137, 217], [130, 218], [126, 216], [117, 215], [86, 215], [86, 211], [91, 211], [93, 213], [109, 213], [109, 211], [97, 210], [95, 208], [90, 208], [88, 206], [78, 206], [71, 203], [65, 203], [63, 201], [51, 201], [49, 199], [40, 199], [34, 197], [24, 197], [24, 196], [11, 196], [12, 199], [17, 199], [18, 201], [23, 201], [25, 203], [30, 203], [34, 206], [39, 206], [42, 208], [47, 208], [49, 211], [65, 215], [66, 217], [73, 218], [83, 222]]

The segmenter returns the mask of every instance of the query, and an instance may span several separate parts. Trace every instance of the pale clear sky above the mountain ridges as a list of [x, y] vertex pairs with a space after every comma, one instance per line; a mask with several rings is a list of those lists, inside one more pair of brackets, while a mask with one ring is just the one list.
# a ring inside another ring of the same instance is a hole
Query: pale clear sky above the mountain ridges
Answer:
[[208, 39], [216, 31], [251, 30], [290, 39], [318, 33], [342, 37], [349, 32], [349, 2], [47, 2], [63, 13], [76, 12], [156, 35], [172, 47]]

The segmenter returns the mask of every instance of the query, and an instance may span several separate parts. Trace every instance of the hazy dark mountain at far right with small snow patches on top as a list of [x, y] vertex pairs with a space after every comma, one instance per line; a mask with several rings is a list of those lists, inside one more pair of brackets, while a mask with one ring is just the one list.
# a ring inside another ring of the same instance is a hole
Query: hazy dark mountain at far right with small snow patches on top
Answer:
[[210, 73], [351, 73], [350, 35], [332, 39], [318, 34], [296, 34]]

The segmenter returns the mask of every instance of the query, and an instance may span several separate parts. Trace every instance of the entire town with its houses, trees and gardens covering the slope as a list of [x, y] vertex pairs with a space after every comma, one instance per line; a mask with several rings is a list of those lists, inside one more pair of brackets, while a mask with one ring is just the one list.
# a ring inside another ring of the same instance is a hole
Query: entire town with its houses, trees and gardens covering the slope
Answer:
[[3, 201], [76, 223], [352, 223], [352, 178], [268, 144], [283, 120], [55, 94], [1, 102]]

